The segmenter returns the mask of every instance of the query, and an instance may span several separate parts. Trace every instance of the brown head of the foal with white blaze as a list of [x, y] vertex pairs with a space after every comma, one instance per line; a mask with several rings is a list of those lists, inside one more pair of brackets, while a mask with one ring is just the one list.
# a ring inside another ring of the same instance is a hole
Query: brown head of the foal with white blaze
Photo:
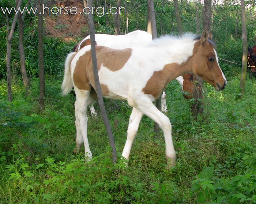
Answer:
[[218, 63], [215, 43], [205, 30], [195, 43], [192, 57], [192, 71], [220, 91], [225, 88], [227, 80]]

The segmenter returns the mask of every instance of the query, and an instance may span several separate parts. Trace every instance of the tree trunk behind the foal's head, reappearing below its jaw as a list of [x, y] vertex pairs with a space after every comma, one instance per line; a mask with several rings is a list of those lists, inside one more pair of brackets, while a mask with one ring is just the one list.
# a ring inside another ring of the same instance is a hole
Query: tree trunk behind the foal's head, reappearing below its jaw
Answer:
[[[209, 30], [211, 25], [211, 0], [204, 0], [204, 21], [203, 21], [203, 30]], [[196, 77], [195, 91], [193, 98], [195, 99], [191, 105], [191, 111], [193, 117], [196, 119], [199, 113], [202, 113], [204, 110], [203, 103], [203, 79], [199, 76]]]

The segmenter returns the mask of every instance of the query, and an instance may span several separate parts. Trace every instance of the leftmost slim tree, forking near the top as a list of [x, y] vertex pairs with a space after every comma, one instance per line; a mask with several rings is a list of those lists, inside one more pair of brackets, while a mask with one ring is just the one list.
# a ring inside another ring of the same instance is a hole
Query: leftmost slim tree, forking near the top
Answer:
[[[18, 10], [18, 8], [20, 7], [21, 2], [22, 2], [22, 0], [18, 1], [16, 10]], [[7, 27], [9, 27], [8, 15], [6, 14], [5, 16], [6, 16]], [[12, 21], [11, 30], [10, 30], [10, 32], [9, 32], [9, 29], [7, 31], [8, 37], [7, 37], [6, 72], [7, 72], [7, 99], [8, 99], [8, 101], [12, 101], [11, 43], [12, 43], [12, 37], [14, 34], [17, 19], [18, 19], [18, 14], [15, 14], [13, 21]]]

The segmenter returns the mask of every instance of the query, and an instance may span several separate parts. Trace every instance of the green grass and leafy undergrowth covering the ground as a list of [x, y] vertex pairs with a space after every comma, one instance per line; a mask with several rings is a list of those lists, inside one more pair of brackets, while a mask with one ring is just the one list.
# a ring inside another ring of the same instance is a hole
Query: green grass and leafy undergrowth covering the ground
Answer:
[[93, 160], [84, 160], [83, 148], [73, 155], [75, 98], [62, 97], [60, 85], [58, 78], [46, 79], [41, 109], [37, 78], [27, 98], [22, 83], [15, 82], [11, 104], [0, 82], [0, 203], [256, 202], [255, 79], [247, 79], [243, 99], [237, 77], [229, 78], [222, 92], [205, 84], [204, 113], [197, 121], [190, 114], [192, 101], [182, 97], [177, 82], [169, 84], [167, 116], [177, 151], [177, 165], [169, 170], [163, 133], [155, 136], [146, 116], [125, 168], [121, 152], [131, 108], [120, 101], [105, 100], [118, 163], [111, 163], [100, 117], [89, 116], [88, 122]]

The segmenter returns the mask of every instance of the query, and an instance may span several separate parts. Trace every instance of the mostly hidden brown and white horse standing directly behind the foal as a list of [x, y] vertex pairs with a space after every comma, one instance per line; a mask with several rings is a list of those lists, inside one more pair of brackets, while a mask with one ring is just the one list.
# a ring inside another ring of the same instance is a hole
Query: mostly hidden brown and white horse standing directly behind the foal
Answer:
[[[148, 43], [152, 42], [152, 35], [146, 31], [136, 30], [129, 32], [125, 35], [107, 35], [107, 34], [95, 34], [96, 45], [110, 47], [114, 49], [125, 49], [125, 48], [133, 48], [139, 46], [145, 46]], [[73, 52], [78, 52], [83, 47], [90, 45], [90, 35], [81, 40], [78, 44], [73, 48]], [[182, 76], [178, 76], [176, 78], [182, 90], [186, 93], [183, 94], [184, 98], [190, 99], [193, 97], [193, 93], [195, 90], [195, 78], [193, 78], [192, 74], [185, 74]], [[91, 116], [97, 116], [97, 113], [93, 107], [93, 105], [89, 106], [91, 111]], [[167, 104], [166, 104], [166, 94], [163, 91], [162, 94], [162, 105], [161, 111], [167, 112]]]

